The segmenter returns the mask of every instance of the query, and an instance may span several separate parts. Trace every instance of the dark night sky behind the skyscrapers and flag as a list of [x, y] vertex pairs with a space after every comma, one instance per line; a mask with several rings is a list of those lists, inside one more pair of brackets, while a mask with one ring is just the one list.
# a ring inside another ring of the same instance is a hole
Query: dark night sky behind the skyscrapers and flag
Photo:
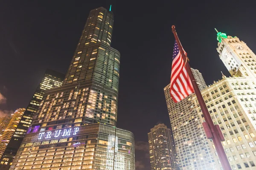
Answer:
[[47, 68], [66, 73], [91, 9], [112, 4], [111, 46], [121, 53], [118, 124], [131, 130], [136, 170], [149, 170], [147, 133], [170, 127], [163, 88], [169, 84], [174, 36], [207, 85], [229, 76], [216, 32], [256, 51], [256, 1], [26, 1], [0, 3], [0, 115], [26, 108]]

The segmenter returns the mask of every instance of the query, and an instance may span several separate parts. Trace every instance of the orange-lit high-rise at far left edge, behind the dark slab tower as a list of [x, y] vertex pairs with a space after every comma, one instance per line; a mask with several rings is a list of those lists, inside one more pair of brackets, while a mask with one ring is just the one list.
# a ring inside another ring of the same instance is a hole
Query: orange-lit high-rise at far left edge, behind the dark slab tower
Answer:
[[[7, 144], [12, 138], [13, 133], [15, 132], [17, 125], [20, 122], [20, 119], [25, 112], [25, 108], [19, 108], [11, 115], [10, 118], [3, 117], [1, 119], [2, 132], [0, 136], [0, 157], [3, 155], [4, 150], [6, 149]], [[7, 164], [8, 160], [1, 159], [0, 164]]]

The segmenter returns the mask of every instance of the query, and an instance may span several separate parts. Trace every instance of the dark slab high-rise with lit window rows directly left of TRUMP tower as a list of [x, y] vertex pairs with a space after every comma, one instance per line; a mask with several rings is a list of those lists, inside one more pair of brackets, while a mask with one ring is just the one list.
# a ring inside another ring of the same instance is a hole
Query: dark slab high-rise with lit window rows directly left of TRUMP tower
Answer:
[[10, 163], [12, 163], [17, 153], [17, 150], [20, 147], [26, 131], [28, 130], [32, 122], [32, 118], [35, 115], [35, 112], [37, 111], [38, 106], [43, 99], [45, 91], [51, 88], [60, 87], [63, 83], [64, 76], [64, 74], [58, 73], [50, 69], [47, 69], [45, 71], [44, 77], [36, 88], [35, 94], [29, 102], [29, 105], [27, 106], [26, 111], [21, 117], [20, 122], [17, 124], [17, 128], [13, 133], [13, 136], [10, 139], [10, 142], [8, 143], [6, 149], [4, 150], [3, 156], [0, 156], [0, 162], [3, 161], [3, 159], [8, 159], [7, 164], [0, 164], [1, 170], [9, 170], [11, 166]]

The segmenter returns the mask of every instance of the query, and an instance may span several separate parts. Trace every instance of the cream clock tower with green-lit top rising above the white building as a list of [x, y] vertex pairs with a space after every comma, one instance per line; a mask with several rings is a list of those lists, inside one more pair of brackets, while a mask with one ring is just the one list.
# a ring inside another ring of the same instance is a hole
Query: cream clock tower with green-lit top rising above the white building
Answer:
[[219, 57], [232, 77], [256, 78], [256, 55], [243, 41], [218, 31], [217, 40]]

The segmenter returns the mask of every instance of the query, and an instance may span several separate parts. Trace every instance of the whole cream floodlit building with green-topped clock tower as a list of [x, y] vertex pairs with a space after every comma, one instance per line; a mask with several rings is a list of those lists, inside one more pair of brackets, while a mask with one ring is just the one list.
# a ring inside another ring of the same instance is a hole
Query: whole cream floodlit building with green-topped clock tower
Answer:
[[[220, 59], [232, 77], [201, 91], [215, 125], [221, 127], [225, 141], [222, 142], [233, 170], [256, 169], [256, 55], [237, 37], [217, 33]], [[192, 101], [201, 115], [196, 96]], [[209, 140], [216, 166], [221, 169], [214, 144]]]

